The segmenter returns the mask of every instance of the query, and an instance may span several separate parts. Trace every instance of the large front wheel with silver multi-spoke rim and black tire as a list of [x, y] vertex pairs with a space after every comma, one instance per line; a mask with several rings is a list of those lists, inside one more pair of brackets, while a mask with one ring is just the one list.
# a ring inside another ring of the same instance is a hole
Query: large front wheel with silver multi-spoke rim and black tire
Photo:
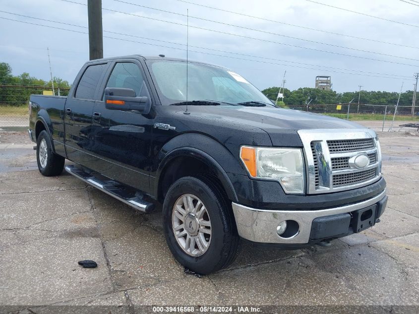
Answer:
[[[169, 188], [163, 204], [163, 229], [172, 254], [195, 273], [210, 274], [236, 258], [239, 235], [233, 210], [223, 189], [209, 176], [183, 177]], [[194, 229], [199, 230], [198, 235]]]

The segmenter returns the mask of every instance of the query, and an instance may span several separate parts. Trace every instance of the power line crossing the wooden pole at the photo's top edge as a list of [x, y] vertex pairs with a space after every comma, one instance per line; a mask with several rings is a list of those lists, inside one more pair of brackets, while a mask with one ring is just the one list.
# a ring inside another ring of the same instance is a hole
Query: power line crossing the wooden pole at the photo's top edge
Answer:
[[[87, 5], [87, 4], [84, 4], [84, 3], [79, 3], [79, 2], [70, 1], [70, 0], [61, 0], [61, 1], [71, 2], [71, 3], [75, 3], [75, 4], [80, 4], [80, 5]], [[162, 20], [162, 19], [158, 19], [158, 18], [153, 18], [153, 17], [148, 17], [148, 16], [143, 16], [143, 15], [138, 15], [138, 14], [134, 14], [134, 13], [122, 12], [122, 11], [113, 10], [113, 9], [107, 9], [107, 8], [102, 8], [102, 9], [103, 10], [107, 10], [107, 11], [111, 11], [111, 12], [116, 12], [116, 13], [121, 13], [121, 14], [136, 16], [136, 17], [141, 17], [141, 18], [145, 18], [145, 19], [150, 19], [150, 20], [154, 20], [154, 21], [165, 22], [165, 23], [170, 23], [170, 24], [175, 24], [175, 25], [180, 25], [180, 26], [186, 26], [186, 24], [182, 24], [182, 23], [178, 23], [178, 22], [173, 22], [173, 21], [166, 21], [166, 20]], [[236, 36], [236, 37], [240, 37], [240, 38], [253, 39], [253, 40], [257, 40], [257, 41], [262, 41], [262, 42], [267, 42], [267, 43], [272, 43], [272, 44], [278, 44], [278, 45], [284, 45], [284, 46], [289, 46], [289, 47], [295, 47], [295, 48], [300, 48], [300, 49], [306, 49], [306, 50], [312, 50], [312, 51], [318, 51], [318, 52], [323, 52], [323, 53], [328, 53], [328, 54], [333, 54], [333, 55], [339, 55], [339, 56], [345, 56], [345, 57], [352, 57], [352, 58], [359, 58], [359, 59], [365, 59], [365, 60], [372, 60], [372, 61], [378, 61], [378, 62], [394, 63], [394, 64], [400, 64], [400, 65], [417, 66], [415, 64], [400, 63], [400, 62], [395, 62], [395, 61], [388, 61], [388, 60], [380, 60], [380, 59], [374, 59], [374, 58], [368, 58], [368, 57], [347, 55], [347, 54], [338, 53], [338, 52], [332, 52], [332, 51], [327, 51], [327, 50], [321, 50], [321, 49], [315, 49], [315, 48], [308, 48], [308, 47], [302, 47], [302, 46], [297, 46], [297, 45], [291, 45], [291, 44], [286, 44], [286, 43], [271, 41], [271, 40], [267, 40], [267, 39], [261, 39], [261, 38], [255, 38], [255, 37], [250, 37], [250, 36], [244, 36], [244, 35], [239, 35], [239, 34], [233, 34], [233, 33], [218, 31], [218, 30], [204, 28], [204, 27], [198, 27], [198, 26], [189, 26], [189, 27], [196, 28], [196, 29], [201, 29], [201, 30], [206, 30], [206, 31], [210, 31], [210, 32], [215, 32], [215, 33], [220, 33], [220, 34], [225, 34], [225, 35]], [[404, 57], [400, 57], [400, 58], [404, 58]], [[416, 59], [413, 59], [413, 60], [416, 60]]]

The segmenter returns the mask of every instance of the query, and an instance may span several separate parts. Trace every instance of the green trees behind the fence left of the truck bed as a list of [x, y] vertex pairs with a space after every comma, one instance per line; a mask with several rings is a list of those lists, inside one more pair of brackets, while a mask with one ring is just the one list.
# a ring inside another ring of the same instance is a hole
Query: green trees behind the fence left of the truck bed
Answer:
[[[60, 89], [61, 96], [67, 96], [70, 84], [54, 77], [56, 95]], [[45, 81], [24, 72], [12, 75], [12, 68], [8, 63], [0, 63], [0, 105], [26, 106], [31, 94], [42, 94], [44, 90], [52, 91], [52, 81]]]

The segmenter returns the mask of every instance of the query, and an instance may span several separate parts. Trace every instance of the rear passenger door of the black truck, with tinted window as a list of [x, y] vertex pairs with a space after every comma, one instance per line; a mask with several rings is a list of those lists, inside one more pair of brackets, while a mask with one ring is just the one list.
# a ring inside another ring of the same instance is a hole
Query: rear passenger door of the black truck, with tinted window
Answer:
[[76, 78], [77, 87], [68, 95], [64, 108], [67, 158], [90, 168], [92, 156], [92, 113], [108, 62], [87, 63]]

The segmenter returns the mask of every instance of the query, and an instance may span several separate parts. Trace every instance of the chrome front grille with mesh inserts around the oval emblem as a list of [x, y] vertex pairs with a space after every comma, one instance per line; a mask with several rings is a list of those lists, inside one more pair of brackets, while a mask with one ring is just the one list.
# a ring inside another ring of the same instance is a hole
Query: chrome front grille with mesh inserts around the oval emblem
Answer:
[[[305, 152], [308, 194], [360, 188], [381, 177], [381, 152], [374, 131], [310, 129], [298, 133]], [[352, 162], [359, 154], [369, 158], [361, 169]]]

